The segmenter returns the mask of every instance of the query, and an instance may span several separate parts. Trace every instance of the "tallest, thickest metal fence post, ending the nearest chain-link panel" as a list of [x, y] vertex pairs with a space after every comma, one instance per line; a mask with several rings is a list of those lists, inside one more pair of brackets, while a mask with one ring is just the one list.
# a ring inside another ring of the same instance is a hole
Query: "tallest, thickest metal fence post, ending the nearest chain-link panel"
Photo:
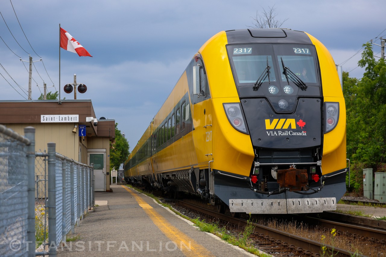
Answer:
[[28, 215], [27, 215], [27, 247], [28, 256], [35, 257], [35, 128], [24, 128], [24, 135], [30, 140], [27, 145], [27, 174], [28, 174]]

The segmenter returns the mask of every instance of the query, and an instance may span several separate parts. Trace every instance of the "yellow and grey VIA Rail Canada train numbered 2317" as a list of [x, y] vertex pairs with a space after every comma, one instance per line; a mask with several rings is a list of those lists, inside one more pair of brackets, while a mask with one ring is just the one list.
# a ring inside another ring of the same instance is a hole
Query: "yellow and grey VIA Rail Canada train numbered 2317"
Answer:
[[195, 54], [124, 164], [128, 183], [231, 213], [335, 210], [346, 114], [327, 48], [291, 29], [222, 31]]

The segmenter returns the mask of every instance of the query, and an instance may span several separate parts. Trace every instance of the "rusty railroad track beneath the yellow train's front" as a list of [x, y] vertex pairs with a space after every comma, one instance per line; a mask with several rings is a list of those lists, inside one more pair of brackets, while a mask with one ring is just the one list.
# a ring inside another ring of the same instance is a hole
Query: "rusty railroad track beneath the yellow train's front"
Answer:
[[[189, 203], [183, 200], [178, 200], [178, 204], [185, 206], [186, 208], [193, 209], [195, 211], [204, 213], [205, 215], [212, 216], [216, 219], [223, 220], [227, 223], [236, 224], [239, 227], [244, 227], [248, 224], [247, 220], [234, 218], [229, 215], [224, 215], [216, 212], [215, 210], [210, 210], [203, 206], [198, 206], [193, 203]], [[310, 225], [319, 226], [320, 228], [324, 228], [324, 230], [330, 230], [335, 228], [338, 234], [345, 234], [346, 236], [351, 234], [355, 237], [363, 237], [365, 240], [369, 240], [369, 243], [377, 243], [385, 245], [386, 240], [386, 231], [377, 230], [374, 228], [365, 228], [361, 226], [355, 226], [350, 224], [339, 223], [336, 221], [328, 221], [322, 220], [318, 218], [308, 218], [301, 217], [301, 221], [304, 223], [309, 223]], [[306, 219], [306, 221], [305, 221]], [[299, 237], [297, 235], [292, 235], [274, 228], [266, 227], [257, 223], [251, 223], [253, 225], [254, 233], [252, 234], [252, 238], [257, 240], [266, 240], [269, 243], [261, 243], [259, 244], [259, 249], [267, 250], [269, 252], [275, 252], [275, 255], [278, 256], [278, 252], [283, 251], [283, 256], [288, 256], [288, 252], [292, 251], [294, 254], [301, 256], [319, 256], [321, 248], [326, 247], [329, 251], [333, 251], [334, 256], [366, 256], [355, 254], [354, 252], [350, 252], [348, 250], [339, 249], [332, 245], [326, 245], [324, 243], [317, 242], [315, 240], [310, 240], [308, 238]], [[366, 239], [367, 238], [367, 239]], [[276, 248], [275, 245], [276, 244]], [[264, 245], [261, 247], [261, 245]]]

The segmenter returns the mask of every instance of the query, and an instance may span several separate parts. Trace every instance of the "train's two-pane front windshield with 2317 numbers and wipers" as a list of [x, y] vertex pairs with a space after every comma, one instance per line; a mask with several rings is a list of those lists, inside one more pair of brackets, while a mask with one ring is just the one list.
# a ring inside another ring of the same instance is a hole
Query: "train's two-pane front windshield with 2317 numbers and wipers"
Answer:
[[320, 85], [316, 51], [312, 45], [243, 44], [228, 45], [227, 49], [239, 87], [256, 87], [256, 82], [263, 87], [293, 85], [298, 84], [297, 78], [307, 86]]

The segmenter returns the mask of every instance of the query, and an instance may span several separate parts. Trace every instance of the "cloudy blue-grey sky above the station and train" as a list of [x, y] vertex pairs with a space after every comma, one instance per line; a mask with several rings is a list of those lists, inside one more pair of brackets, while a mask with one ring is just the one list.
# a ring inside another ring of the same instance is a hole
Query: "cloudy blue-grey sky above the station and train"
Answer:
[[[11, 4], [10, 0], [1, 0], [0, 100], [28, 98], [28, 63], [19, 60], [22, 57], [28, 61], [28, 54], [33, 61], [43, 59], [43, 63], [34, 63], [32, 99], [43, 92], [43, 81], [47, 86], [55, 85], [48, 91], [59, 90], [61, 24], [93, 56], [79, 57], [61, 50], [61, 98], [73, 99], [73, 93], [64, 93], [63, 86], [73, 83], [76, 74], [77, 82], [87, 85], [87, 92], [77, 93], [77, 99], [91, 99], [96, 118], [115, 119], [131, 150], [190, 59], [217, 32], [253, 26], [256, 11], [262, 14], [263, 8], [268, 11], [274, 6], [276, 20], [288, 19], [282, 27], [315, 36], [330, 50], [336, 64], [343, 64], [343, 70], [349, 71], [351, 77], [361, 78], [363, 70], [357, 68], [357, 62], [362, 44], [370, 39], [380, 44], [379, 37], [386, 37], [384, 3], [12, 0]], [[380, 56], [380, 51], [379, 46], [374, 46], [376, 56]]]

